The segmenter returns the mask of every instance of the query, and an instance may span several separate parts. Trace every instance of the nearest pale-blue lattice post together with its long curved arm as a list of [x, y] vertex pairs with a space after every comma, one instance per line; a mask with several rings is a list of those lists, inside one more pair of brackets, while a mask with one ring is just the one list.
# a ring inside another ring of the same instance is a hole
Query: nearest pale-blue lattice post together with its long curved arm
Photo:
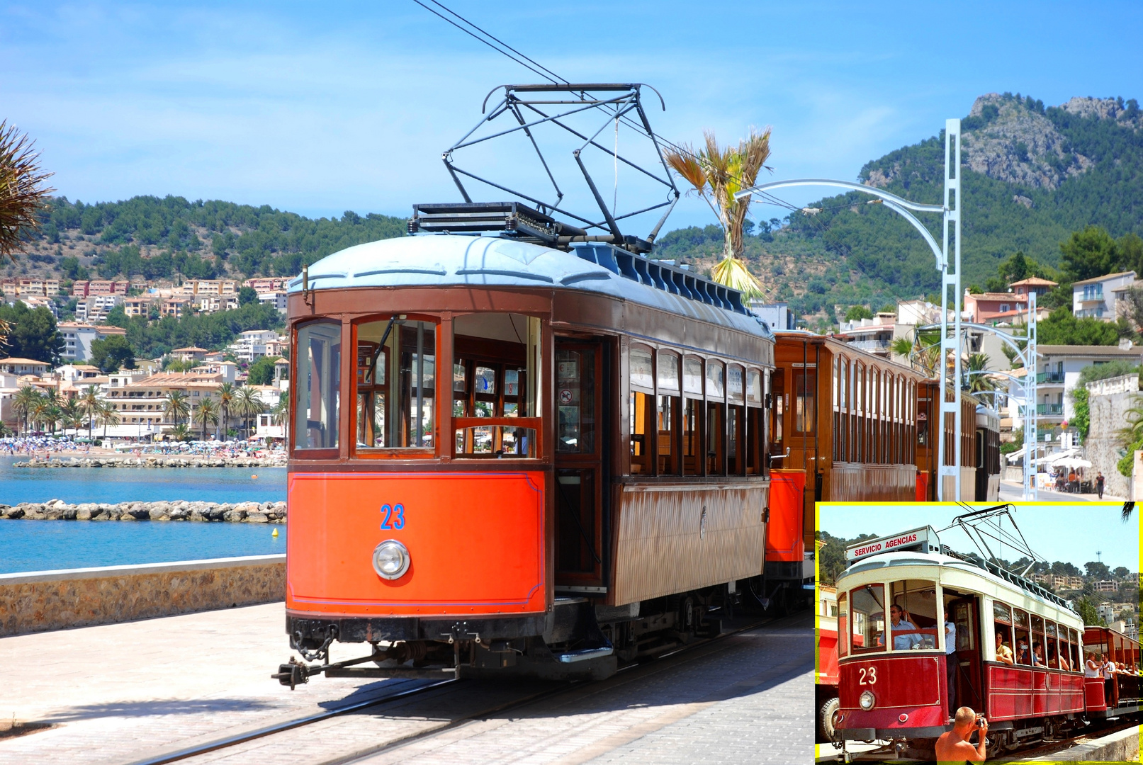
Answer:
[[[949, 352], [952, 352], [953, 362], [953, 379], [960, 380], [961, 364], [960, 364], [960, 305], [961, 305], [961, 292], [960, 292], [960, 120], [945, 120], [944, 123], [944, 203], [943, 204], [919, 204], [917, 202], [910, 202], [909, 200], [902, 199], [896, 194], [890, 194], [889, 192], [882, 191], [880, 188], [874, 188], [873, 186], [865, 186], [863, 184], [853, 183], [849, 180], [831, 180], [828, 178], [796, 178], [792, 180], [775, 180], [768, 184], [758, 184], [757, 186], [751, 186], [750, 188], [744, 188], [736, 193], [734, 198], [743, 199], [749, 198], [751, 194], [766, 192], [774, 188], [790, 188], [792, 186], [834, 186], [838, 188], [846, 188], [849, 191], [857, 191], [863, 194], [870, 194], [877, 196], [882, 201], [885, 207], [889, 208], [897, 215], [902, 216], [909, 222], [913, 228], [920, 232], [925, 242], [933, 250], [933, 255], [936, 257], [936, 268], [941, 272], [941, 359], [948, 359]], [[942, 217], [942, 231], [943, 231], [943, 247], [937, 245], [936, 240], [933, 234], [925, 227], [925, 225], [913, 216], [910, 210], [916, 210], [917, 212], [940, 212]], [[951, 225], [951, 232], [950, 232]], [[951, 233], [951, 242], [950, 242]], [[950, 265], [950, 248], [952, 250], [952, 273], [949, 273]], [[953, 311], [953, 331], [952, 336], [949, 335], [949, 288], [952, 288], [952, 311]], [[941, 429], [944, 428], [944, 414], [952, 414], [953, 428], [956, 433], [960, 433], [960, 405], [957, 401], [956, 388], [953, 388], [952, 401], [946, 401], [949, 397], [949, 370], [948, 364], [941, 363], [940, 367], [940, 379], [941, 379]], [[1034, 373], [1034, 367], [1032, 368]], [[1025, 435], [1026, 438], [1026, 435]], [[945, 499], [944, 497], [944, 477], [951, 477], [953, 485], [953, 499], [960, 500], [960, 438], [952, 438], [952, 465], [944, 464], [944, 438], [937, 438], [937, 467], [938, 467], [938, 480], [936, 483], [936, 496], [938, 500]]]

